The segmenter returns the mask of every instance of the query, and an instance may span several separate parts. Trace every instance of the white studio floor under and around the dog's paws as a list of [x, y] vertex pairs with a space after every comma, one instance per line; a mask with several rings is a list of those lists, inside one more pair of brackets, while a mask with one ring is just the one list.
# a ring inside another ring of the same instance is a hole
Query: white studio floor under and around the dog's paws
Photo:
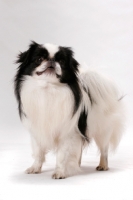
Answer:
[[133, 145], [129, 139], [131, 134], [129, 130], [117, 152], [109, 156], [109, 171], [95, 170], [99, 155], [95, 144], [92, 143], [83, 153], [81, 173], [63, 180], [53, 180], [51, 175], [55, 167], [55, 155], [47, 155], [41, 174], [25, 174], [24, 170], [33, 161], [28, 133], [10, 132], [10, 142], [5, 141], [7, 138], [3, 137], [0, 146], [0, 200], [132, 200]]

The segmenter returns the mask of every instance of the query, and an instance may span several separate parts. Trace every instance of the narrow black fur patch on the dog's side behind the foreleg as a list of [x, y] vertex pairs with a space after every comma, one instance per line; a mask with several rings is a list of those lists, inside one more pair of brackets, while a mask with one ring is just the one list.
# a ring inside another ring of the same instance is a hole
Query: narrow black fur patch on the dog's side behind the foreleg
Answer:
[[84, 138], [89, 142], [89, 139], [86, 135], [86, 129], [87, 129], [87, 113], [84, 110], [80, 113], [79, 121], [78, 121], [78, 128], [81, 132], [81, 134], [84, 136]]

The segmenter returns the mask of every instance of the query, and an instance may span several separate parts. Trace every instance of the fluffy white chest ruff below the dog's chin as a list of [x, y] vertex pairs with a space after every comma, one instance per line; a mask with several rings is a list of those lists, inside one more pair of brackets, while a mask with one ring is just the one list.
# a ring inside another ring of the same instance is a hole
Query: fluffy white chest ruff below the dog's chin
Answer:
[[72, 117], [72, 99], [67, 86], [43, 83], [28, 77], [21, 90], [28, 128], [32, 132], [56, 134]]

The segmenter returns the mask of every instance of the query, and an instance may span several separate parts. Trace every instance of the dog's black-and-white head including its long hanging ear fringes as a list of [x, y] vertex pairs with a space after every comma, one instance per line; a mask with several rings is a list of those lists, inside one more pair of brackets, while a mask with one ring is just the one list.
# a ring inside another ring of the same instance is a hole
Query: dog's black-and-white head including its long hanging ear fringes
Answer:
[[32, 76], [37, 80], [57, 85], [58, 83], [67, 84], [74, 96], [74, 113], [76, 112], [81, 101], [77, 76], [79, 64], [73, 58], [71, 48], [32, 42], [27, 51], [18, 55], [16, 63], [20, 64], [14, 79], [20, 116], [22, 114], [20, 91], [25, 76]]

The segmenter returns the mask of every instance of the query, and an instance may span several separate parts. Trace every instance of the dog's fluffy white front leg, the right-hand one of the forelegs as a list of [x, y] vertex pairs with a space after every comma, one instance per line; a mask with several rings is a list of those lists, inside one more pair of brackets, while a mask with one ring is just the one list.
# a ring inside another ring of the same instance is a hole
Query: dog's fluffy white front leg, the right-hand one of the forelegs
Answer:
[[59, 145], [56, 157], [56, 169], [53, 179], [64, 179], [80, 171], [82, 139], [79, 134], [72, 133]]

